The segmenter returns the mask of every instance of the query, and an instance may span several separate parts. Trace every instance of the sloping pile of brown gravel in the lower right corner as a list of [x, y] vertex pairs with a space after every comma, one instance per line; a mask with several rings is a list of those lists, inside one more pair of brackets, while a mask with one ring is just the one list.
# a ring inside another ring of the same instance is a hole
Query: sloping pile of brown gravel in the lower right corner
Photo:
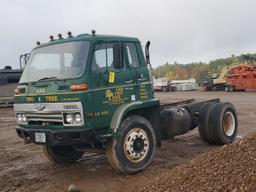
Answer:
[[256, 133], [170, 169], [140, 192], [256, 191]]

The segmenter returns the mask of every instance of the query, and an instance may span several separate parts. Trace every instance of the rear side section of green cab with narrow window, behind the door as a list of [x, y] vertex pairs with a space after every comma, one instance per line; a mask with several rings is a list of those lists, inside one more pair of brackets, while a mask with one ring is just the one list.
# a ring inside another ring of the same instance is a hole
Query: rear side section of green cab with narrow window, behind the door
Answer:
[[135, 82], [135, 100], [153, 97], [149, 71], [145, 63], [140, 43], [124, 43], [124, 63]]

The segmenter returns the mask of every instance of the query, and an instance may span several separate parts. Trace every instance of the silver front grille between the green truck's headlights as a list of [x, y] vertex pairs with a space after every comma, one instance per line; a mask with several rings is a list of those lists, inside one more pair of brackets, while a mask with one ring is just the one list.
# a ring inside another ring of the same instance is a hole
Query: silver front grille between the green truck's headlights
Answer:
[[50, 124], [50, 125], [63, 125], [63, 115], [61, 112], [48, 112], [48, 113], [27, 113], [28, 124]]

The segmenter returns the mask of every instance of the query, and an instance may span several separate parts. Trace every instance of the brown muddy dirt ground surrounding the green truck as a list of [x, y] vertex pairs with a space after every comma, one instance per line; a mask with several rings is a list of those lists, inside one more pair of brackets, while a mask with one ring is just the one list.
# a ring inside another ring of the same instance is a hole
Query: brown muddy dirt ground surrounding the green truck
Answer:
[[[256, 92], [170, 92], [156, 93], [162, 103], [184, 99], [221, 98], [232, 102], [238, 112], [239, 137], [256, 130]], [[81, 191], [133, 191], [199, 154], [216, 148], [201, 141], [197, 129], [164, 141], [147, 170], [135, 175], [113, 171], [104, 154], [85, 154], [69, 167], [57, 166], [44, 156], [41, 146], [27, 144], [15, 133], [12, 108], [0, 109], [0, 191], [67, 191], [70, 184]]]

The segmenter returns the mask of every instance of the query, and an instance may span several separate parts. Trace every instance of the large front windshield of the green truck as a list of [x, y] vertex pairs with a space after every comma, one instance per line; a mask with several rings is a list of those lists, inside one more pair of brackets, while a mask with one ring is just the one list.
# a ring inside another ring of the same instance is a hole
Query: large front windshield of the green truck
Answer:
[[74, 41], [32, 51], [20, 83], [80, 77], [86, 66], [90, 42]]

